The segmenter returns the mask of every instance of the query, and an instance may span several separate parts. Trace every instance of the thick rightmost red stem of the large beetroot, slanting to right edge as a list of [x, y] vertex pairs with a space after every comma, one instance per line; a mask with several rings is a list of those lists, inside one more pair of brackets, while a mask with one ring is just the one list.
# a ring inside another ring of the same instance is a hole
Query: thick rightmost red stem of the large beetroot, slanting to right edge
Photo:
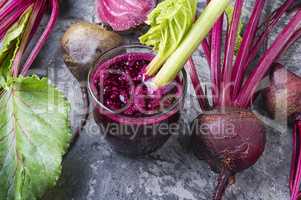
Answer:
[[240, 107], [246, 107], [250, 104], [252, 96], [259, 85], [262, 78], [269, 70], [272, 63], [275, 61], [281, 50], [285, 47], [289, 38], [295, 33], [296, 29], [300, 25], [301, 10], [291, 19], [288, 25], [285, 26], [283, 31], [278, 35], [271, 47], [261, 57], [260, 62], [251, 76], [247, 79], [243, 85], [241, 92], [235, 100], [235, 104]]

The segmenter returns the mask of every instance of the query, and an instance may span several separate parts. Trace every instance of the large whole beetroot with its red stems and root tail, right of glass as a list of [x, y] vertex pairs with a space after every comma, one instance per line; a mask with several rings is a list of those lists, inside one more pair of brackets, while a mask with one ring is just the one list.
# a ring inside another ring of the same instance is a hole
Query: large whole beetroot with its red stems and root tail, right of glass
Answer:
[[[265, 128], [251, 112], [251, 104], [256, 98], [257, 87], [273, 62], [301, 35], [299, 28], [301, 10], [299, 9], [272, 44], [267, 47], [267, 50], [264, 53], [259, 52], [264, 41], [268, 39], [269, 33], [278, 25], [279, 20], [294, 1], [286, 0], [264, 23], [260, 24], [266, 1], [256, 0], [249, 21], [246, 23], [242, 41], [237, 44], [239, 21], [245, 2], [236, 0], [232, 20], [225, 21], [221, 17], [216, 22], [212, 33], [203, 41], [202, 47], [211, 70], [212, 97], [201, 90], [201, 84], [198, 83], [199, 80], [193, 73], [196, 71], [193, 70], [195, 68], [193, 62], [189, 60], [187, 65], [189, 72], [192, 72], [190, 76], [200, 107], [205, 111], [205, 114], [194, 120], [192, 146], [195, 154], [204, 159], [213, 171], [220, 174], [213, 195], [214, 200], [222, 199], [227, 185], [231, 182], [230, 177], [251, 167], [262, 155], [266, 141]], [[224, 23], [227, 23], [228, 31], [224, 31]], [[188, 46], [188, 43], [185, 45]], [[239, 47], [236, 54], [237, 45]], [[187, 47], [183, 48], [183, 51], [186, 49]], [[259, 54], [260, 59], [256, 61], [255, 58]], [[252, 62], [255, 68], [248, 74], [247, 71]], [[296, 97], [298, 95], [290, 95], [292, 100], [300, 103], [300, 98]], [[212, 102], [211, 107], [206, 105], [209, 99]], [[298, 105], [300, 104], [295, 104], [294, 108]], [[270, 106], [273, 107], [272, 104]], [[208, 110], [213, 111], [208, 112]], [[291, 110], [293, 109], [290, 108], [289, 111]], [[296, 146], [299, 146], [299, 143]], [[294, 182], [298, 183], [301, 180], [301, 167], [293, 177], [295, 176], [297, 178]], [[293, 185], [295, 188], [299, 186], [295, 183]]]

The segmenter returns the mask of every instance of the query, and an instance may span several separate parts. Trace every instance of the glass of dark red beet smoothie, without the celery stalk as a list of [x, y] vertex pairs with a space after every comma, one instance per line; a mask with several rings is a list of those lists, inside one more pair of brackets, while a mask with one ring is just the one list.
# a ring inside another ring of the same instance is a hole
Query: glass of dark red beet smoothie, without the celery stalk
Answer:
[[155, 89], [143, 73], [153, 58], [148, 47], [122, 46], [105, 53], [89, 73], [95, 121], [112, 148], [125, 155], [149, 154], [180, 128], [186, 73]]

